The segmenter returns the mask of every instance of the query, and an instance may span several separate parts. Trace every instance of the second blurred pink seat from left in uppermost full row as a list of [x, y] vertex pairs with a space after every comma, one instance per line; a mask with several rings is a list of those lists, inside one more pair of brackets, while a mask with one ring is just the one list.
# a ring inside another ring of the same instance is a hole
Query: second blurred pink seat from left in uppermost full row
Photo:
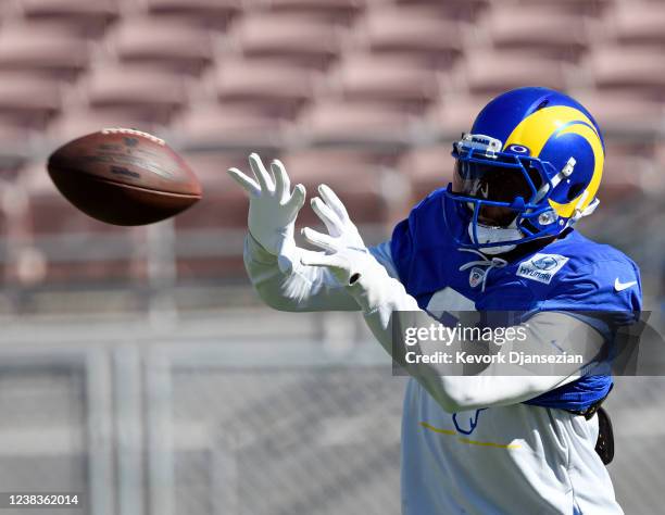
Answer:
[[154, 18], [129, 20], [114, 30], [113, 48], [126, 63], [147, 63], [199, 75], [213, 60], [205, 29]]

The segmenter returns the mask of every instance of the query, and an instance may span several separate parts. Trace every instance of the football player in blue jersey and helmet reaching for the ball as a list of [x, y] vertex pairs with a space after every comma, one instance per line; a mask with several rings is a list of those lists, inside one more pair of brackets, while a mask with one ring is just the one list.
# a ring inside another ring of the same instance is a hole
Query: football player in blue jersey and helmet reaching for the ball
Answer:
[[[281, 163], [268, 172], [250, 155], [253, 178], [231, 168], [250, 197], [244, 261], [261, 298], [285, 311], [360, 310], [389, 352], [396, 311], [511, 310], [525, 314], [518, 324], [528, 321], [535, 340], [565, 321], [599, 349], [637, 321], [636, 264], [574, 228], [598, 205], [604, 160], [582, 105], [545, 88], [505, 92], [453, 145], [452, 158], [452, 184], [371, 249], [322, 185], [311, 204], [328, 234], [303, 229], [322, 252], [293, 240], [305, 191], [291, 189]], [[623, 513], [604, 466], [611, 436], [599, 411], [612, 377], [580, 370], [414, 374], [402, 420], [402, 512]]]

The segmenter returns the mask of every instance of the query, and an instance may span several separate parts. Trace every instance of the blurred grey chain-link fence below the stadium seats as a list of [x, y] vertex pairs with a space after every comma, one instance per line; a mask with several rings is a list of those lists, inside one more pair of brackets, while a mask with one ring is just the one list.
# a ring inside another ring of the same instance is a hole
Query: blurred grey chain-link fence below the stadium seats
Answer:
[[[83, 492], [88, 505], [63, 515], [399, 514], [405, 379], [368, 338], [340, 350], [311, 323], [284, 340], [278, 319], [261, 324], [272, 337], [233, 341], [187, 324], [105, 341], [58, 326], [39, 346], [14, 331], [0, 347], [2, 491]], [[607, 403], [629, 514], [661, 511], [664, 387], [619, 378]]]

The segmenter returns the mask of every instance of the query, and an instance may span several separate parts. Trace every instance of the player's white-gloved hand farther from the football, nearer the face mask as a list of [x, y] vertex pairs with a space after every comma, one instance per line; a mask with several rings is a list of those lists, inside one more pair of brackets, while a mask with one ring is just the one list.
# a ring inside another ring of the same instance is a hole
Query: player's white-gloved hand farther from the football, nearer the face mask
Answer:
[[366, 271], [380, 265], [365, 247], [337, 194], [326, 185], [318, 187], [318, 193], [321, 198], [312, 199], [312, 209], [328, 229], [328, 234], [305, 227], [302, 235], [324, 252], [306, 252], [301, 255], [300, 262], [303, 265], [325, 266], [340, 284], [349, 286]]

